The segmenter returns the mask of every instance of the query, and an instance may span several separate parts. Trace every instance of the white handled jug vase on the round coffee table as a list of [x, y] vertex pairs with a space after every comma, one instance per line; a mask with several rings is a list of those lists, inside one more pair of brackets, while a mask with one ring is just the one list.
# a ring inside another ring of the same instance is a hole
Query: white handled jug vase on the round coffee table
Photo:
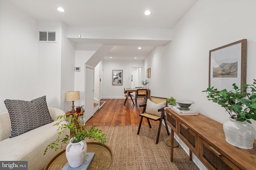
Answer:
[[84, 158], [87, 152], [87, 145], [85, 140], [78, 143], [71, 143], [71, 141], [72, 139], [70, 139], [70, 142], [66, 147], [66, 158], [69, 165], [72, 168], [76, 168], [82, 165], [84, 162]]

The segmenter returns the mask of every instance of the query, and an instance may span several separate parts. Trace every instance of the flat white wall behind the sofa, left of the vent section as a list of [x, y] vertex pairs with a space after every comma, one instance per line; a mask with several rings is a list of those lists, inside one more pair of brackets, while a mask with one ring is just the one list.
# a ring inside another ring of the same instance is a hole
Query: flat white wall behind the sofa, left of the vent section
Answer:
[[0, 113], [6, 99], [33, 100], [38, 81], [37, 20], [0, 0]]

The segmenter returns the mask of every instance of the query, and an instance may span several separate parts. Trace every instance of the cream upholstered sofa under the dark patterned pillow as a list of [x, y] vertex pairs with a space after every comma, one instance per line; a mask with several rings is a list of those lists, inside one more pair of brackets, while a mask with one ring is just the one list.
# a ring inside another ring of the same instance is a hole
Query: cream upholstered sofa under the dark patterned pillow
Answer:
[[[50, 115], [54, 121], [46, 125], [37, 127], [22, 135], [9, 138], [11, 135], [11, 122], [8, 112], [0, 113], [0, 161], [28, 161], [28, 170], [43, 170], [49, 160], [62, 149], [66, 149], [66, 145], [60, 150], [48, 149], [44, 155], [44, 149], [47, 145], [55, 141], [58, 137], [58, 126], [53, 126], [58, 115], [65, 115], [65, 112], [49, 107]], [[62, 137], [69, 135], [66, 131]], [[61, 143], [60, 143], [61, 144]]]

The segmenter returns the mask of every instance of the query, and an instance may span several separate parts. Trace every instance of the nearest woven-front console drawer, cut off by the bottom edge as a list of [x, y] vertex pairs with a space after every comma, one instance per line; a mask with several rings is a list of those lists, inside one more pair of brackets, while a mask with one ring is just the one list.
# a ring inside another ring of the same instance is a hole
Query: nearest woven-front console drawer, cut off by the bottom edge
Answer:
[[217, 149], [209, 143], [199, 138], [199, 157], [203, 163], [211, 170], [240, 170], [235, 164], [223, 156]]

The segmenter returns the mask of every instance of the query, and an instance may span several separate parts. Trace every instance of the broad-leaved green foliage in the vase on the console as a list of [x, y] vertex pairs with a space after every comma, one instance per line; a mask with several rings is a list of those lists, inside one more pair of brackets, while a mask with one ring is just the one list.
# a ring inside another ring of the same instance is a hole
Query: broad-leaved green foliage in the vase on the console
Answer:
[[[224, 107], [229, 113], [230, 117], [236, 121], [247, 121], [252, 123], [249, 119], [256, 120], [256, 80], [253, 84], [244, 84], [243, 88], [239, 89], [236, 84], [232, 84], [232, 91], [218, 90], [207, 88], [202, 92], [206, 92], [208, 100]], [[234, 113], [234, 114], [233, 114]]]

